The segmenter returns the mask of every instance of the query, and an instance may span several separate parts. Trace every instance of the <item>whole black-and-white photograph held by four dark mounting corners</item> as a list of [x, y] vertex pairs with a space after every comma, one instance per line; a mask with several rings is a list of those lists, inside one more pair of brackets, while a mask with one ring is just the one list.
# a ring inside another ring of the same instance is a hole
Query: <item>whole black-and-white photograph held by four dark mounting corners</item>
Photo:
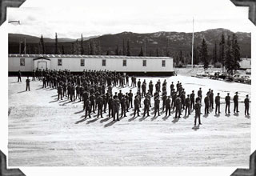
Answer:
[[8, 166], [248, 168], [248, 8], [126, 3], [8, 8]]

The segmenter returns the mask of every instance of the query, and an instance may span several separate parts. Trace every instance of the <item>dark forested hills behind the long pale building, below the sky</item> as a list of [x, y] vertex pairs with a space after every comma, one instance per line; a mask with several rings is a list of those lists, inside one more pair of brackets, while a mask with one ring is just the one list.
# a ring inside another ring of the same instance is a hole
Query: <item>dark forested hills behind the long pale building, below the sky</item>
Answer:
[[[233, 33], [226, 29], [213, 29], [194, 33], [194, 47], [195, 52], [202, 45], [202, 39], [205, 38], [208, 47], [208, 54], [210, 58], [213, 55], [214, 46], [216, 43], [217, 54], [218, 46], [222, 34], [225, 38], [235, 34], [238, 38], [240, 46], [240, 53], [242, 58], [250, 58], [251, 53], [251, 34], [237, 32]], [[9, 53], [15, 54], [19, 52], [19, 40], [26, 37], [26, 53], [38, 54], [40, 36], [22, 36], [21, 34], [9, 34]], [[32, 39], [31, 39], [32, 38]], [[80, 38], [58, 38], [58, 53], [62, 54], [80, 54], [81, 42]], [[132, 32], [122, 32], [120, 34], [105, 34], [102, 36], [95, 36], [83, 38], [84, 54], [126, 54], [127, 42], [129, 41], [130, 55], [138, 56], [141, 50], [145, 54], [146, 41], [146, 55], [147, 56], [166, 56], [174, 58], [189, 59], [191, 54], [192, 34], [184, 32], [156, 32], [148, 34], [138, 34]], [[54, 54], [55, 39], [44, 38], [46, 54]], [[123, 52], [123, 49], [125, 52]]]

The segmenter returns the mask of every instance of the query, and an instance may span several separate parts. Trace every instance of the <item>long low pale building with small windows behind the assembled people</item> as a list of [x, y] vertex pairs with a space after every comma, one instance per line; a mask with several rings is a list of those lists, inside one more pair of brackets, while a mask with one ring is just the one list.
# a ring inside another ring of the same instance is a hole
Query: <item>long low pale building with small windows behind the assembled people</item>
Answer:
[[29, 74], [32, 70], [110, 70], [137, 75], [172, 76], [173, 58], [136, 57], [114, 55], [70, 55], [70, 54], [9, 54], [9, 74], [18, 70]]

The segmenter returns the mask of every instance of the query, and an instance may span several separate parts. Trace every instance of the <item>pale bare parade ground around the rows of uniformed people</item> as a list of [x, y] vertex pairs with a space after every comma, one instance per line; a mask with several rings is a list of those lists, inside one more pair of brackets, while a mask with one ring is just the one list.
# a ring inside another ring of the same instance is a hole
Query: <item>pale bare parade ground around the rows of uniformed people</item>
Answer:
[[[31, 80], [32, 78], [30, 78]], [[244, 99], [250, 96], [250, 85], [190, 76], [146, 79], [155, 82], [166, 79], [167, 95], [170, 83], [178, 81], [190, 94], [202, 87], [202, 97], [209, 89], [221, 96], [221, 114], [204, 115], [202, 101], [201, 126], [194, 126], [194, 111], [190, 116], [174, 119], [162, 113], [154, 117], [151, 98], [150, 116], [140, 117], [130, 109], [126, 118], [113, 121], [103, 118], [84, 119], [82, 102], [57, 100], [57, 90], [42, 89], [42, 82], [31, 81], [26, 90], [26, 78], [17, 82], [9, 78], [9, 166], [248, 166], [250, 156], [250, 116], [244, 114]], [[138, 78], [137, 78], [138, 81]], [[131, 83], [131, 82], [130, 82]], [[137, 88], [125, 87], [135, 94]], [[113, 92], [119, 92], [114, 88]], [[233, 97], [238, 91], [239, 113], [234, 114]], [[225, 96], [230, 92], [230, 115], [225, 114]], [[214, 109], [215, 110], [215, 109]], [[251, 106], [250, 106], [251, 111]], [[97, 111], [96, 111], [97, 112]], [[106, 110], [108, 112], [108, 110]], [[121, 110], [120, 113], [121, 114]]]

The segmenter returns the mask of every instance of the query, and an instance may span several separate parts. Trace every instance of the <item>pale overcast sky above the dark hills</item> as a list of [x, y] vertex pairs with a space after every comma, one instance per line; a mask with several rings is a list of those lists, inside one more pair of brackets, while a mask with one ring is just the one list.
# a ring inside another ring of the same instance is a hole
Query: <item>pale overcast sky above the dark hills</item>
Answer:
[[194, 31], [226, 28], [234, 32], [250, 32], [254, 27], [248, 20], [248, 8], [236, 7], [230, 0], [72, 2], [27, 0], [21, 8], [10, 8], [9, 21], [20, 20], [21, 25], [10, 23], [9, 32], [34, 36], [43, 34], [47, 38], [54, 38], [55, 32], [58, 38], [123, 31], [192, 32], [193, 17]]

